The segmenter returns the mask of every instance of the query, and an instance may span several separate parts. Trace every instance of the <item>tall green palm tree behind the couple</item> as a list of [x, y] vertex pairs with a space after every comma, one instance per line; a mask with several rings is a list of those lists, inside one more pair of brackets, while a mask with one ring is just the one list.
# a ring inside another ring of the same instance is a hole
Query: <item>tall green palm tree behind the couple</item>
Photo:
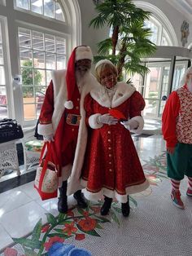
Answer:
[[137, 8], [131, 0], [104, 0], [96, 3], [98, 15], [90, 21], [94, 29], [108, 26], [109, 37], [98, 42], [98, 55], [94, 61], [108, 59], [116, 64], [120, 77], [122, 72], [144, 75], [148, 68], [141, 64], [149, 57], [155, 44], [149, 40], [151, 29], [145, 27], [151, 12]]

